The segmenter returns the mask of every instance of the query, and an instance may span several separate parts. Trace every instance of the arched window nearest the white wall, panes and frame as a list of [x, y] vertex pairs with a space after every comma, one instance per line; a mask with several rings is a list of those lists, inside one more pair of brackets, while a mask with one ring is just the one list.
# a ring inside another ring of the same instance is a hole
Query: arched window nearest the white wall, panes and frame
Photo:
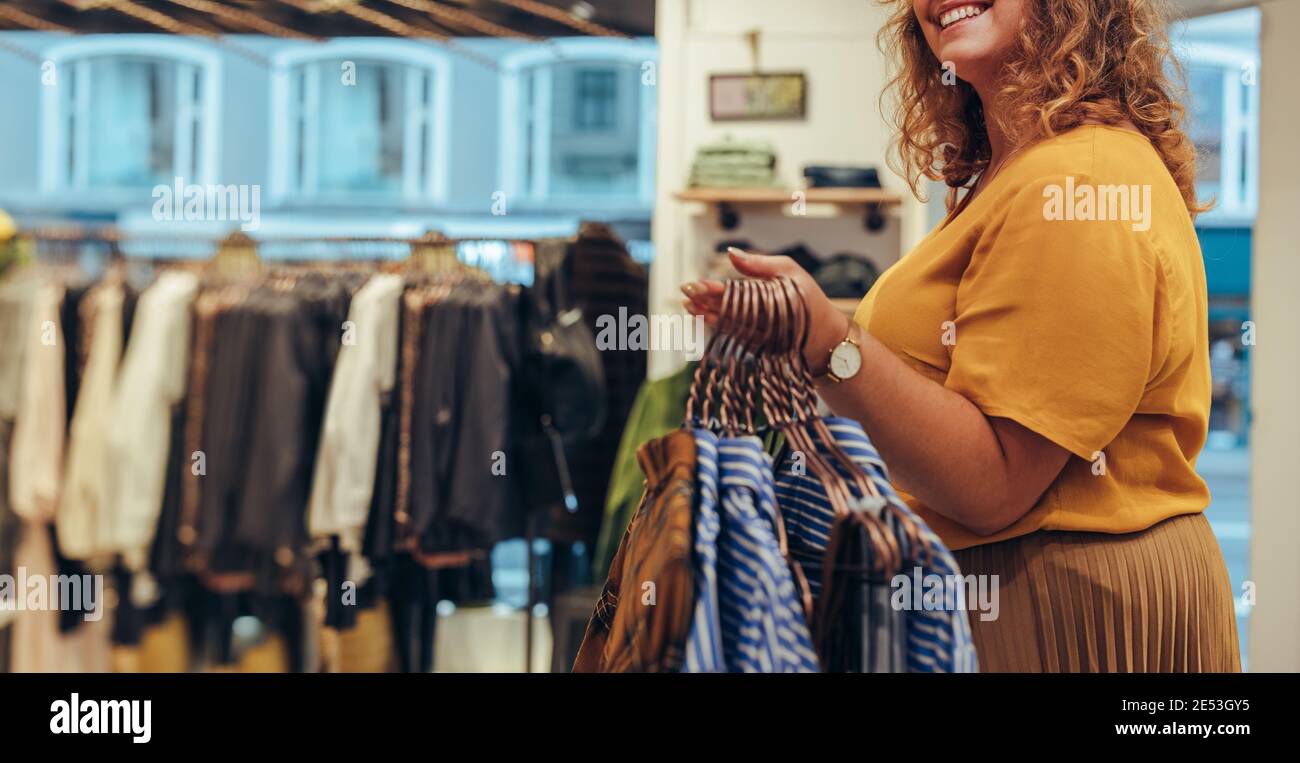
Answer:
[[555, 40], [507, 56], [500, 185], [532, 205], [654, 203], [650, 43]]

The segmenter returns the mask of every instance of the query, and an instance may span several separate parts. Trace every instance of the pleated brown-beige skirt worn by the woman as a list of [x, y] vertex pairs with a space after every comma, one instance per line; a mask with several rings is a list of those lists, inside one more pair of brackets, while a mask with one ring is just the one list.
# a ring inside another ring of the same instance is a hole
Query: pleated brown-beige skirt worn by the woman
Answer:
[[1232, 588], [1201, 513], [1140, 533], [1039, 532], [956, 551], [998, 576], [982, 672], [1240, 672]]

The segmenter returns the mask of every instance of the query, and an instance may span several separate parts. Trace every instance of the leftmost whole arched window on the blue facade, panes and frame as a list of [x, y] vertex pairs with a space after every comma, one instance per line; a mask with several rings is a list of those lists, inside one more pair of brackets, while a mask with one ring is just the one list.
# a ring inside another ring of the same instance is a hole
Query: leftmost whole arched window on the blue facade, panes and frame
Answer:
[[74, 40], [47, 52], [42, 186], [135, 191], [209, 182], [220, 57], [157, 35]]

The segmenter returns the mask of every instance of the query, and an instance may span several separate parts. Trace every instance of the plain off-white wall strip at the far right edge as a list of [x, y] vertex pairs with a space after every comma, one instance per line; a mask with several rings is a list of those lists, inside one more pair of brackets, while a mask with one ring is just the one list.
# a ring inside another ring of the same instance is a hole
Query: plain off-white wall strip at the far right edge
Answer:
[[1260, 5], [1260, 212], [1251, 355], [1251, 671], [1300, 671], [1300, 3]]

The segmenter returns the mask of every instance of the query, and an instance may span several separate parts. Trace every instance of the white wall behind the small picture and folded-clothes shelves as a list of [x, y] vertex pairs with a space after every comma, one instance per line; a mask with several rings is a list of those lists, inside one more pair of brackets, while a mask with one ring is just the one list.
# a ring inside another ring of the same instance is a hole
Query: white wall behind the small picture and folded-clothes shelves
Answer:
[[[885, 81], [876, 32], [885, 10], [866, 0], [659, 0], [658, 198], [651, 311], [680, 311], [677, 287], [698, 273], [720, 238], [745, 238], [779, 250], [805, 242], [822, 256], [853, 251], [880, 269], [924, 233], [922, 205], [885, 166], [889, 130], [878, 100]], [[758, 30], [758, 68], [807, 75], [807, 118], [780, 122], [712, 122], [708, 75], [744, 73], [753, 66], [746, 32]], [[863, 164], [880, 169], [884, 186], [907, 198], [885, 229], [870, 234], [862, 216], [842, 220], [790, 220], [779, 213], [742, 214], [741, 226], [723, 231], [708, 211], [684, 204], [696, 148], [727, 134], [766, 139], [776, 146], [785, 187], [802, 186], [806, 164]], [[653, 354], [650, 376], [675, 370], [677, 354]]]

